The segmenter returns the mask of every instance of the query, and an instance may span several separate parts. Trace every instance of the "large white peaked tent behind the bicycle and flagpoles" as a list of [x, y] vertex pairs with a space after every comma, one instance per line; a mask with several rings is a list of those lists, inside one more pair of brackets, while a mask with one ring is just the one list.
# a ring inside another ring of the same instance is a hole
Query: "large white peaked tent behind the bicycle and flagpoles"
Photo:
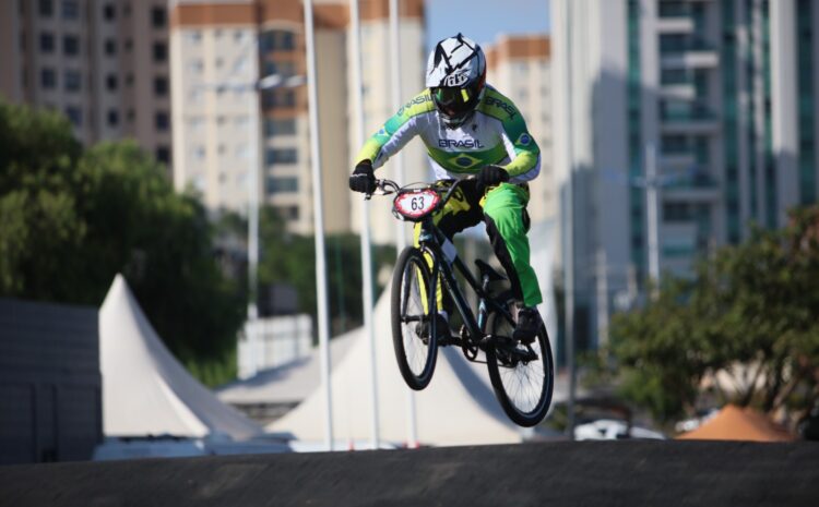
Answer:
[[[389, 295], [388, 287], [384, 295]], [[407, 442], [405, 384], [392, 348], [389, 297], [376, 306], [376, 353], [381, 440]], [[344, 361], [331, 375], [333, 430], [341, 442], [367, 442], [372, 432], [369, 387], [369, 348], [358, 333]], [[319, 388], [271, 432], [292, 433], [304, 442], [324, 438], [324, 398]], [[522, 439], [521, 428], [509, 421], [491, 391], [486, 365], [467, 362], [460, 349], [439, 350], [431, 384], [415, 395], [418, 440], [422, 445], [508, 444]]]

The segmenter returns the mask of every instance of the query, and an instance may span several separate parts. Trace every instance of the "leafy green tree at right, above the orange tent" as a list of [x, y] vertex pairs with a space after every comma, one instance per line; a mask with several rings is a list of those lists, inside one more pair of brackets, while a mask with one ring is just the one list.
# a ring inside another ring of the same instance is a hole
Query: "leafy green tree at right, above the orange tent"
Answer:
[[693, 280], [668, 280], [655, 301], [615, 316], [621, 393], [668, 421], [692, 411], [708, 378], [722, 402], [798, 418], [819, 400], [817, 279], [819, 206], [794, 210], [782, 230], [755, 229], [699, 263]]

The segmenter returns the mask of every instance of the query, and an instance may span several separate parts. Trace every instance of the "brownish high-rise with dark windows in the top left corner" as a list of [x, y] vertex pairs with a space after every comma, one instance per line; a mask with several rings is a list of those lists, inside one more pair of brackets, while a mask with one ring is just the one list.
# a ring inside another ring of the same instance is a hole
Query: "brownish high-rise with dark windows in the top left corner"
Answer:
[[167, 0], [0, 2], [0, 95], [62, 111], [86, 145], [135, 138], [170, 165]]

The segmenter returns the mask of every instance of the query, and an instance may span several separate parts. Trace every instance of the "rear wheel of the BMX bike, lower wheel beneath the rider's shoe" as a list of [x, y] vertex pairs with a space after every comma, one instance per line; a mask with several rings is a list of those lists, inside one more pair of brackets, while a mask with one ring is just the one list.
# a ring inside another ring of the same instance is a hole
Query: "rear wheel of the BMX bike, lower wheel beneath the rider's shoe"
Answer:
[[505, 304], [507, 312], [490, 312], [488, 329], [492, 345], [487, 347], [489, 378], [503, 411], [521, 426], [539, 423], [551, 405], [555, 386], [555, 362], [546, 326], [530, 345], [512, 339], [514, 304]]

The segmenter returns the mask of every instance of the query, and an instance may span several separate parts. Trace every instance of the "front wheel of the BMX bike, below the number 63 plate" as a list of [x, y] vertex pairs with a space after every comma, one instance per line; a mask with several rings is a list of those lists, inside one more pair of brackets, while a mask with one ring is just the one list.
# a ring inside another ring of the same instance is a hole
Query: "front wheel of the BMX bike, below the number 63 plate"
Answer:
[[392, 277], [392, 343], [401, 376], [420, 390], [429, 385], [438, 351], [435, 325], [435, 287], [418, 249], [407, 246]]

